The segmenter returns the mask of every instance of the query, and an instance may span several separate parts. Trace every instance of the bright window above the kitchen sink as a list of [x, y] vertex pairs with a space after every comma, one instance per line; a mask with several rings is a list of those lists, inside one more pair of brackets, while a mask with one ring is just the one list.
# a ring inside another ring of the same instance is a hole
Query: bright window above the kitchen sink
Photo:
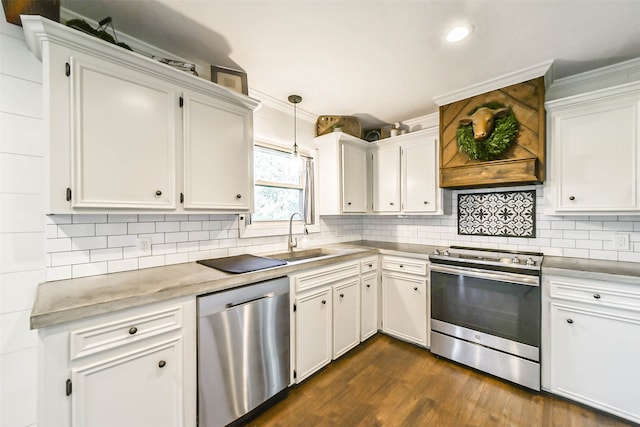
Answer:
[[[286, 148], [265, 142], [254, 146], [254, 212], [240, 221], [241, 237], [283, 235], [293, 212], [305, 217], [311, 232], [316, 231], [314, 206], [314, 161], [302, 153], [291, 159]], [[295, 230], [302, 227], [295, 218]]]

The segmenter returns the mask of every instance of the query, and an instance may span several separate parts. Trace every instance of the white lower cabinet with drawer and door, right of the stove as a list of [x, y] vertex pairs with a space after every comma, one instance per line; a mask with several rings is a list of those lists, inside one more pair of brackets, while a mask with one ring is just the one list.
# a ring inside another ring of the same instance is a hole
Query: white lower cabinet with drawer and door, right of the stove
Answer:
[[640, 422], [640, 289], [546, 277], [543, 388]]

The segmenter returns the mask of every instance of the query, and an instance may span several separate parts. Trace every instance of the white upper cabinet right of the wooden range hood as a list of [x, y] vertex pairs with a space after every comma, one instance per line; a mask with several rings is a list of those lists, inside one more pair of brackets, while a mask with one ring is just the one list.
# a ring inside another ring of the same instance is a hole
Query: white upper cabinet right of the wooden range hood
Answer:
[[551, 160], [545, 213], [640, 212], [640, 82], [547, 101], [545, 107]]

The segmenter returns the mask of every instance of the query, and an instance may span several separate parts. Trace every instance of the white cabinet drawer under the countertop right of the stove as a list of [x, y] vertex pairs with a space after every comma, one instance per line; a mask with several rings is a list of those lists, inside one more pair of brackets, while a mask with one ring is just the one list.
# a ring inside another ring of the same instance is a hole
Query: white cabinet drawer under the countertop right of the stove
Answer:
[[549, 279], [549, 293], [551, 298], [640, 311], [640, 286], [627, 283], [553, 277]]

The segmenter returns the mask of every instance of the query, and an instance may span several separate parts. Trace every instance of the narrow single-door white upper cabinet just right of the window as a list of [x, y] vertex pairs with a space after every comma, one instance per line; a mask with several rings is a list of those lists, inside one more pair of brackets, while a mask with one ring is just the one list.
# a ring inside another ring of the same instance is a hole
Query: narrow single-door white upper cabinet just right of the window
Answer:
[[370, 143], [343, 132], [314, 139], [318, 149], [318, 212], [320, 215], [368, 211]]

